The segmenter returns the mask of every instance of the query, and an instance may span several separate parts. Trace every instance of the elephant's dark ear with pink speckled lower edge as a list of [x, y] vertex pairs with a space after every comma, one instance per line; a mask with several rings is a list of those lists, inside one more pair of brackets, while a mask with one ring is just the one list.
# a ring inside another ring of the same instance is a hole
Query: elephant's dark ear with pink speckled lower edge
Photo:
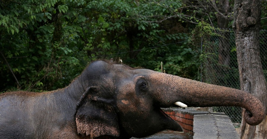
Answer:
[[90, 135], [90, 138], [101, 135], [118, 137], [120, 130], [117, 114], [111, 106], [92, 100], [89, 92], [95, 90], [94, 87], [88, 88], [77, 103], [75, 113], [77, 133]]

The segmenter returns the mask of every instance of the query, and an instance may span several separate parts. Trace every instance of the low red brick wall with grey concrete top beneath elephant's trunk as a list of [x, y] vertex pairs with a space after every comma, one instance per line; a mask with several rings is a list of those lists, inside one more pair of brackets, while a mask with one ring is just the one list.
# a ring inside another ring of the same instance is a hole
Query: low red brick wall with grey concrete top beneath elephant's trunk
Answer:
[[197, 111], [195, 108], [164, 108], [162, 109], [177, 121], [193, 139], [239, 139], [233, 123], [224, 113]]

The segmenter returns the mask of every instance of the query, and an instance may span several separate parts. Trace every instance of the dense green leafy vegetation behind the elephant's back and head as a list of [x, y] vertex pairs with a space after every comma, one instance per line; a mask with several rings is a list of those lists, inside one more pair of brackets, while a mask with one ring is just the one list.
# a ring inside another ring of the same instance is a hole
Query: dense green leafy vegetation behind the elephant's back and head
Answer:
[[0, 92], [63, 88], [92, 60], [111, 58], [158, 71], [163, 62], [166, 73], [198, 80], [201, 48], [187, 40], [201, 20], [216, 26], [216, 12], [187, 2], [1, 1]]

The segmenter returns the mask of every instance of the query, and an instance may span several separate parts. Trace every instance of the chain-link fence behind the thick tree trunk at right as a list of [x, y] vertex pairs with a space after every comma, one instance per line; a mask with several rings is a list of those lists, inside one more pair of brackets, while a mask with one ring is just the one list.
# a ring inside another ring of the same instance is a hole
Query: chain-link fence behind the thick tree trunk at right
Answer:
[[[217, 35], [202, 42], [206, 54], [201, 68], [202, 82], [240, 89], [239, 70], [233, 30], [216, 30]], [[260, 31], [260, 58], [267, 79], [267, 30]], [[224, 112], [233, 123], [241, 123], [241, 107], [213, 107], [213, 111]]]

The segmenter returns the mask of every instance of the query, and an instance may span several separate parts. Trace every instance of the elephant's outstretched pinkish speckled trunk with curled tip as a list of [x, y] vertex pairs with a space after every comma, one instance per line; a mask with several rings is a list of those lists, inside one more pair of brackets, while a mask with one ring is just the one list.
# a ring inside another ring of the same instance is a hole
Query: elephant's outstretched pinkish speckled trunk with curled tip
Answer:
[[193, 107], [240, 106], [246, 109], [245, 120], [249, 125], [260, 124], [266, 115], [262, 102], [247, 92], [168, 74], [158, 74], [155, 78], [165, 82], [158, 85], [163, 86], [161, 89], [155, 86], [163, 90], [154, 98], [160, 107], [172, 106], [176, 101]]

